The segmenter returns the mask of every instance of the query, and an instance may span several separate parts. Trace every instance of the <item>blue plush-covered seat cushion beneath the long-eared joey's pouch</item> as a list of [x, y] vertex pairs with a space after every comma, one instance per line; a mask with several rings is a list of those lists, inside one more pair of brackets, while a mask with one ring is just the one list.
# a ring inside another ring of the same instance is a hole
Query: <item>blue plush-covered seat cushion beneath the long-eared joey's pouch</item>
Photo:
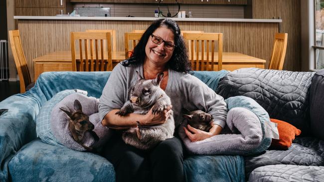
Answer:
[[113, 165], [105, 158], [33, 140], [8, 164], [13, 182], [115, 182]]

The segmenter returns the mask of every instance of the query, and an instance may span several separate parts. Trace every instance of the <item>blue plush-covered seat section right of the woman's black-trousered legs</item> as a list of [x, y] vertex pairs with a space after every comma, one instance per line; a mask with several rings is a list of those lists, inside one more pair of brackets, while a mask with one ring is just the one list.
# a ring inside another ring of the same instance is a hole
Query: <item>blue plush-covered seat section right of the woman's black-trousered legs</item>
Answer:
[[244, 182], [241, 156], [190, 156], [183, 161], [186, 182]]

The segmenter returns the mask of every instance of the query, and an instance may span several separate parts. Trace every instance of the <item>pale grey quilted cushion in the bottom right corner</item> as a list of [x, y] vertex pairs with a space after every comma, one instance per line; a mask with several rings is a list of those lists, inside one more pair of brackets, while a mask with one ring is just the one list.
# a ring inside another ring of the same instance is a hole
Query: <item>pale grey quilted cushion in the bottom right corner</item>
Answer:
[[270, 165], [255, 169], [249, 182], [323, 182], [324, 167]]

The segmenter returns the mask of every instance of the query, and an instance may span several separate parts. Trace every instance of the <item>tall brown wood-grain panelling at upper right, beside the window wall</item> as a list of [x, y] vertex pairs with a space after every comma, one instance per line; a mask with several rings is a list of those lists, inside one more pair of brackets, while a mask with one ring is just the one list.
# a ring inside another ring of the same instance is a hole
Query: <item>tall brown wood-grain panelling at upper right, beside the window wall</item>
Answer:
[[300, 0], [253, 0], [253, 18], [283, 20], [281, 32], [288, 33], [284, 70], [301, 71], [300, 11]]

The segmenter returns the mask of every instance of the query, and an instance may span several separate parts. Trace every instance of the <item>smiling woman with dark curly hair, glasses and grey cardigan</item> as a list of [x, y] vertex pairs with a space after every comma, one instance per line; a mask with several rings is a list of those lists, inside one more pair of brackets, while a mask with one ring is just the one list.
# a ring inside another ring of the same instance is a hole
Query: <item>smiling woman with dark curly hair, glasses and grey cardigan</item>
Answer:
[[[114, 68], [100, 97], [99, 113], [102, 124], [117, 131], [103, 154], [114, 165], [117, 182], [181, 182], [184, 179], [183, 149], [178, 137], [162, 141], [150, 151], [141, 151], [125, 144], [118, 130], [136, 127], [136, 121], [141, 125], [162, 124], [171, 107], [176, 127], [183, 120], [182, 109], [200, 109], [213, 115], [214, 125], [209, 132], [190, 126], [184, 128], [191, 141], [217, 135], [224, 127], [226, 103], [199, 79], [188, 74], [190, 70], [180, 29], [171, 19], [154, 21], [135, 47], [133, 56]], [[170, 97], [172, 106], [155, 115], [152, 111], [146, 115], [116, 115], [129, 98], [129, 89], [137, 80], [136, 71], [145, 79], [155, 79], [163, 72], [160, 87]]]

